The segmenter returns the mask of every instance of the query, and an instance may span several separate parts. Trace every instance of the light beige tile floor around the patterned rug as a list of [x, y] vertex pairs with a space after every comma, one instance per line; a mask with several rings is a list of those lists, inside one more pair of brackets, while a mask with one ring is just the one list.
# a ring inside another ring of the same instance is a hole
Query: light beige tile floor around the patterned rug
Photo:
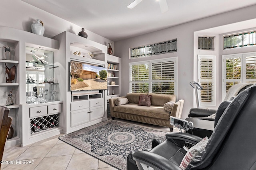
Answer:
[[[168, 127], [160, 127], [123, 119], [123, 123], [170, 132]], [[178, 129], [174, 129], [178, 131]], [[1, 170], [116, 170], [116, 168], [60, 141], [57, 135], [25, 147], [11, 147], [4, 150]], [[13, 163], [13, 164], [11, 164]]]

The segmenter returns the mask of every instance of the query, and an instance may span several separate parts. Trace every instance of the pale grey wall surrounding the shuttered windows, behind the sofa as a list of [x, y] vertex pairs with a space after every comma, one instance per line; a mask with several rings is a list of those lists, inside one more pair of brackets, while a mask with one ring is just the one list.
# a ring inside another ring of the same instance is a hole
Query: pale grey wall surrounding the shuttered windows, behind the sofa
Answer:
[[[232, 27], [233, 23], [255, 19], [256, 6], [250, 6], [216, 16], [203, 18], [200, 20], [191, 21], [153, 33], [147, 33], [130, 39], [121, 40], [115, 42], [115, 53], [116, 56], [122, 58], [122, 96], [125, 96], [129, 91], [128, 89], [128, 64], [130, 62], [145, 61], [150, 59], [161, 59], [168, 57], [178, 57], [178, 100], [184, 99], [184, 109], [182, 112], [182, 118], [186, 118], [189, 109], [194, 107], [194, 91], [189, 85], [189, 82], [194, 80], [196, 75], [195, 68], [195, 55], [194, 55], [194, 32], [201, 31], [209, 28], [220, 27], [222, 25], [229, 25], [230, 30], [236, 30]], [[255, 22], [254, 22], [255, 23]], [[241, 23], [242, 24], [242, 23]], [[248, 26], [248, 28], [251, 27]], [[221, 30], [221, 29], [220, 29]], [[227, 29], [228, 30], [228, 29]], [[211, 30], [208, 30], [211, 31]], [[228, 31], [226, 31], [228, 32]], [[210, 32], [211, 33], [211, 32]], [[223, 30], [222, 30], [223, 33]], [[177, 52], [169, 53], [164, 55], [156, 55], [154, 57], [145, 57], [144, 59], [129, 59], [129, 48], [138, 47], [141, 45], [147, 45], [151, 43], [166, 41], [177, 38]], [[219, 41], [222, 38], [219, 37]], [[221, 54], [217, 52], [218, 57]], [[218, 59], [217, 69], [221, 70], [221, 64]], [[218, 72], [218, 75], [221, 75]], [[218, 90], [221, 91], [221, 83], [218, 81]], [[220, 103], [220, 92], [218, 93], [216, 105]], [[217, 107], [216, 106], [216, 107]]]

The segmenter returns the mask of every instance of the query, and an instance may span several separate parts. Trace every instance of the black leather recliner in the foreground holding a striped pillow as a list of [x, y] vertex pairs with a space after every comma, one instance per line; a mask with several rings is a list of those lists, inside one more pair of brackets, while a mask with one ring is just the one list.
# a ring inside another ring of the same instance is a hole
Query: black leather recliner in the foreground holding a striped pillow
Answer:
[[[218, 111], [217, 111], [218, 114]], [[256, 85], [241, 92], [220, 116], [202, 152], [192, 158], [187, 170], [254, 170], [256, 152]], [[186, 150], [184, 141], [196, 144], [202, 138], [188, 133], [168, 133], [166, 141], [150, 151], [133, 154], [139, 170], [181, 170], [179, 167]], [[144, 166], [145, 165], [145, 166]], [[129, 170], [129, 169], [128, 169]]]

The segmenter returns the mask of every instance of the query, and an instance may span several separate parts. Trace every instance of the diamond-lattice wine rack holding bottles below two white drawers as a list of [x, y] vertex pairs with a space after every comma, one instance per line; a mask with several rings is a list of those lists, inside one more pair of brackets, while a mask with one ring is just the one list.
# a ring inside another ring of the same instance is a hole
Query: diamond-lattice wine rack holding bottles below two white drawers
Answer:
[[30, 119], [30, 134], [58, 127], [60, 113]]

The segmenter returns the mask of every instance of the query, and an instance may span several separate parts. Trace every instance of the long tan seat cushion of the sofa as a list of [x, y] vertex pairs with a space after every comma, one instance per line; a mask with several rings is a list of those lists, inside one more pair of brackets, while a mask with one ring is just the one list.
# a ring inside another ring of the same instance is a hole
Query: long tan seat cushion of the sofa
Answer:
[[[170, 113], [164, 111], [163, 106], [153, 106], [145, 107], [145, 106], [138, 106], [138, 104], [125, 104], [120, 106], [115, 106], [114, 111], [129, 113], [134, 115], [140, 115], [144, 117], [153, 117], [157, 119], [170, 119]], [[139, 121], [139, 120], [138, 120]]]

